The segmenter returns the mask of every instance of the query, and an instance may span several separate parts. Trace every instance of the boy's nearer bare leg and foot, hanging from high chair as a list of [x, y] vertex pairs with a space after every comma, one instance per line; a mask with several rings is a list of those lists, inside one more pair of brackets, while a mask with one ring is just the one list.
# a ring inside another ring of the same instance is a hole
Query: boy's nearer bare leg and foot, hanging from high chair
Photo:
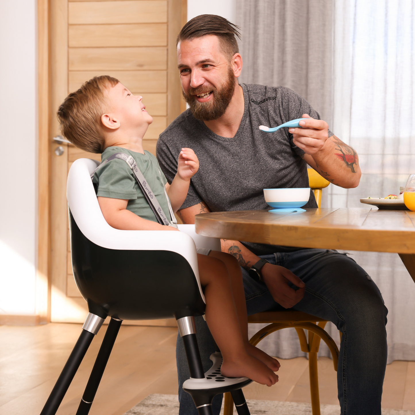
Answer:
[[205, 286], [206, 322], [222, 352], [221, 372], [227, 377], [246, 376], [271, 386], [278, 377], [246, 350], [232, 295], [232, 283], [225, 264], [198, 254], [200, 282]]

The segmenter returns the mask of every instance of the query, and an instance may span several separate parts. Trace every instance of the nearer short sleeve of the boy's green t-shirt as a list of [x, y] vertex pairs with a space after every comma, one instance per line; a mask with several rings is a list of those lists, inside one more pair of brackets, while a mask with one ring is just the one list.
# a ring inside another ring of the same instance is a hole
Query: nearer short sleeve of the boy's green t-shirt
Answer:
[[102, 166], [94, 175], [97, 196], [112, 199], [137, 199], [135, 178], [124, 160], [114, 159]]

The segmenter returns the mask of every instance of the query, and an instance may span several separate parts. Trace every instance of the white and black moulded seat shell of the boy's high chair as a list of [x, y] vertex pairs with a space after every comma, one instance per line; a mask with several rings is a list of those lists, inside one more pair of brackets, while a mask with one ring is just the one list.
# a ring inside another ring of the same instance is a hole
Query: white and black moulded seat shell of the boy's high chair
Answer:
[[122, 320], [203, 314], [205, 298], [192, 237], [186, 231], [110, 227], [90, 179], [97, 166], [95, 160], [76, 160], [66, 191], [73, 274], [90, 312], [99, 315], [101, 309]]

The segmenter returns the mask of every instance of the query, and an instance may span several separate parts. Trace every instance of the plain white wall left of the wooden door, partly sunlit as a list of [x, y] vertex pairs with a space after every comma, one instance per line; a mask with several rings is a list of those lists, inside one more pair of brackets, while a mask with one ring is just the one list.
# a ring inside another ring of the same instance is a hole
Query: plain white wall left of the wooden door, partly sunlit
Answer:
[[36, 0], [0, 1], [0, 314], [35, 312]]

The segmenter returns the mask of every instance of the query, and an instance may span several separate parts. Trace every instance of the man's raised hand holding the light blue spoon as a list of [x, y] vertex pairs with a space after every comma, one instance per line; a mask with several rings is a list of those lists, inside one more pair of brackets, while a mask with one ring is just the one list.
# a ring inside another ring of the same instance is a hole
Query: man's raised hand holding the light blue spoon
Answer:
[[323, 148], [329, 138], [329, 125], [323, 120], [311, 118], [308, 114], [303, 114], [302, 118], [309, 120], [300, 121], [302, 128], [289, 128], [288, 132], [293, 134], [293, 143], [305, 154], [312, 156]]

